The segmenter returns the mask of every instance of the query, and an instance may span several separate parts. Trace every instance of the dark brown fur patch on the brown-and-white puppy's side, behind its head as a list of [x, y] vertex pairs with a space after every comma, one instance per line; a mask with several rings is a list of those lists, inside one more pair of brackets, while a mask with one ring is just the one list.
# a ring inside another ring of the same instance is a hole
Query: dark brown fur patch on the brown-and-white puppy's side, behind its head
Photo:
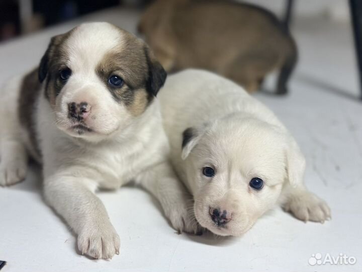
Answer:
[[36, 139], [36, 124], [35, 124], [35, 103], [39, 97], [41, 84], [38, 80], [38, 68], [34, 69], [25, 75], [19, 93], [19, 120], [29, 132], [30, 142], [40, 157], [40, 151]]

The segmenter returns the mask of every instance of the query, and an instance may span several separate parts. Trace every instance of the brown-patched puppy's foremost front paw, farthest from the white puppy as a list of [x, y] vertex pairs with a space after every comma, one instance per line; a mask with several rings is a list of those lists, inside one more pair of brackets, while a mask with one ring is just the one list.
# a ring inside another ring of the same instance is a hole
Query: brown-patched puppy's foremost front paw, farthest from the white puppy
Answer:
[[119, 254], [120, 238], [112, 226], [86, 226], [78, 235], [78, 249], [96, 259], [111, 259]]

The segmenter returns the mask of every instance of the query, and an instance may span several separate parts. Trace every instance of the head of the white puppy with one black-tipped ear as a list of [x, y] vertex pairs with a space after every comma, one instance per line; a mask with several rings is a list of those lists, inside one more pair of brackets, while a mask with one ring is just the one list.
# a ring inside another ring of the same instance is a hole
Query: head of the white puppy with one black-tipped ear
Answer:
[[[247, 232], [274, 207], [290, 174], [303, 178], [303, 156], [290, 141], [270, 124], [235, 116], [185, 130], [183, 159], [198, 222], [222, 236]], [[299, 152], [300, 161], [291, 161], [290, 152]]]

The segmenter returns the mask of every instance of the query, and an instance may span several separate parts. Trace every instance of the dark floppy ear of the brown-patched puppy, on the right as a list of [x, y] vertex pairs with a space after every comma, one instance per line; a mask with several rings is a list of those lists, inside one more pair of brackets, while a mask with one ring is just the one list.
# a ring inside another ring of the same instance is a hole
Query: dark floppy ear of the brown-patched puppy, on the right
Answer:
[[151, 95], [156, 96], [159, 89], [163, 86], [167, 74], [147, 46], [145, 46], [145, 56], [148, 65], [146, 89]]

